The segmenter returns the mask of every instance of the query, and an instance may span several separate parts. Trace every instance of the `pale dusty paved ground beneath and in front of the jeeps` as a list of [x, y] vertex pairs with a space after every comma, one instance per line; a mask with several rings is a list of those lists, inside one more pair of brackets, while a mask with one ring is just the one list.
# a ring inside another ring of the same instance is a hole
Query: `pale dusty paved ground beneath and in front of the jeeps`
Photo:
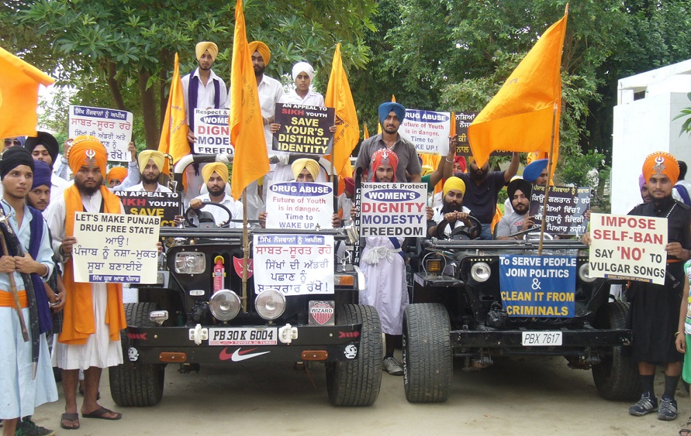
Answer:
[[[444, 404], [409, 404], [403, 378], [384, 374], [369, 408], [334, 408], [325, 370], [310, 375], [290, 364], [206, 366], [180, 375], [169, 366], [161, 403], [117, 408], [120, 421], [82, 419], [59, 435], [676, 435], [689, 415], [679, 389], [680, 417], [630, 417], [628, 403], [598, 397], [589, 371], [571, 370], [560, 357], [498, 359], [479, 372], [456, 362], [451, 398]], [[662, 390], [662, 375], [656, 377]], [[102, 404], [115, 405], [102, 379]], [[61, 390], [61, 384], [58, 385]], [[58, 429], [62, 399], [41, 406], [39, 424]]]

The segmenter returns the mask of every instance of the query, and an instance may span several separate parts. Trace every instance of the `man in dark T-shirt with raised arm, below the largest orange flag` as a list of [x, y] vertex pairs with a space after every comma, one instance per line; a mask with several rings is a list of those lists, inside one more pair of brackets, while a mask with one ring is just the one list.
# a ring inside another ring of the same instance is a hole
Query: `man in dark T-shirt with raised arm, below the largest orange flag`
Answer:
[[455, 173], [454, 176], [466, 184], [464, 202], [473, 215], [482, 223], [480, 239], [492, 239], [492, 219], [497, 210], [499, 191], [518, 171], [518, 153], [513, 153], [513, 159], [507, 171], [488, 171], [489, 162], [482, 167], [477, 166], [474, 158], [470, 158], [468, 173]]

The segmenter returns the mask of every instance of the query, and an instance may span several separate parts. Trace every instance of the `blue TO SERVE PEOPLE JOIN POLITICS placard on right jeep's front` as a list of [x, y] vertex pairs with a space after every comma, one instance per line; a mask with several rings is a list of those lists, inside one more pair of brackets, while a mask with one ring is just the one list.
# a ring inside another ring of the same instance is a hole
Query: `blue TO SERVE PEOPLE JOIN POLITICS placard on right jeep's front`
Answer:
[[499, 287], [509, 316], [573, 318], [575, 256], [500, 256]]

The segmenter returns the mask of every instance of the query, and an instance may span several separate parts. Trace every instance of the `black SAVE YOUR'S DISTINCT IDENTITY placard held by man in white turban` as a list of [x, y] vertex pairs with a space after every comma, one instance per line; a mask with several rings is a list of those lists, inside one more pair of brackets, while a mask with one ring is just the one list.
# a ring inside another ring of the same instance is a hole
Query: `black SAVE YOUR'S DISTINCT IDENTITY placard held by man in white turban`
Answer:
[[327, 155], [334, 133], [334, 108], [303, 104], [276, 104], [274, 122], [281, 129], [274, 133], [272, 149], [286, 153]]

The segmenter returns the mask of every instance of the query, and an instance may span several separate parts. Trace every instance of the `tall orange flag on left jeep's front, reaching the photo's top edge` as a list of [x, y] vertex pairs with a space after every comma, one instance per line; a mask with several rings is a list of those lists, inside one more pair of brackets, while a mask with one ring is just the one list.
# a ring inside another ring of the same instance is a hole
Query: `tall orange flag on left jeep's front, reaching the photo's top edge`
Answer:
[[269, 172], [269, 154], [259, 93], [249, 53], [243, 0], [235, 4], [235, 38], [230, 73], [230, 142], [235, 146], [231, 189], [238, 200], [248, 184]]

